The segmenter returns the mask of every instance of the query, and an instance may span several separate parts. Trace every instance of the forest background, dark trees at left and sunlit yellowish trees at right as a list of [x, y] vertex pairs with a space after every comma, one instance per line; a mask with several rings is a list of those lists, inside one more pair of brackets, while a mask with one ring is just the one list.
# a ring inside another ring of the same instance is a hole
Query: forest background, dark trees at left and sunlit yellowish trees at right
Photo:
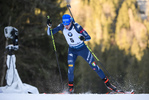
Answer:
[[[148, 0], [142, 0], [149, 5]], [[86, 44], [124, 90], [149, 93], [149, 6], [140, 10], [137, 0], [71, 0], [71, 11], [91, 36]], [[61, 82], [52, 39], [47, 36], [46, 16], [53, 28], [69, 11], [65, 0], [0, 1], [0, 85], [5, 86], [6, 38], [4, 27], [19, 30], [16, 66], [24, 83], [40, 93], [61, 91]], [[141, 14], [146, 14], [145, 18]], [[67, 89], [68, 45], [62, 32], [54, 35], [62, 78]], [[99, 67], [103, 69], [97, 62]], [[103, 69], [105, 72], [105, 70]], [[106, 73], [106, 72], [105, 72]], [[78, 57], [75, 65], [75, 92], [106, 93], [103, 81]], [[106, 73], [109, 77], [109, 75]], [[115, 84], [110, 78], [111, 82]]]

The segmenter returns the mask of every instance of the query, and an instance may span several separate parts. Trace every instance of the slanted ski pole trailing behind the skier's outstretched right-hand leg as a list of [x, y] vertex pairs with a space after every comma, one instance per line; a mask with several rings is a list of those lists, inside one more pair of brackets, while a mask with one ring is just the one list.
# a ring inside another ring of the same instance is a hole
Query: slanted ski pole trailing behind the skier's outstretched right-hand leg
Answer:
[[[85, 44], [86, 47], [89, 49], [89, 51], [92, 53], [92, 55], [96, 58], [96, 60], [100, 63], [101, 67], [104, 68], [104, 70], [107, 72], [107, 74], [112, 78], [112, 80], [114, 82], [116, 82], [117, 86], [120, 87], [119, 83], [117, 81], [115, 81], [115, 79], [110, 75], [110, 73], [107, 71], [107, 69], [103, 66], [103, 64], [101, 63], [101, 61], [97, 58], [97, 56], [93, 53], [93, 51], [89, 48], [89, 46], [87, 44]], [[121, 88], [121, 87], [120, 87]]]

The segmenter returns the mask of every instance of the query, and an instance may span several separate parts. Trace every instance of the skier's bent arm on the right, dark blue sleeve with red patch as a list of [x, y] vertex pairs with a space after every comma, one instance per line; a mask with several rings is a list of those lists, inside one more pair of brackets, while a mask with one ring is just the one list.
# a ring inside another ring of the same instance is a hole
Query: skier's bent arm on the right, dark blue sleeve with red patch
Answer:
[[76, 31], [79, 32], [82, 35], [81, 38], [82, 38], [83, 41], [89, 41], [91, 39], [89, 34], [82, 28], [82, 26], [80, 26], [78, 23], [75, 23], [74, 25], [76, 27]]

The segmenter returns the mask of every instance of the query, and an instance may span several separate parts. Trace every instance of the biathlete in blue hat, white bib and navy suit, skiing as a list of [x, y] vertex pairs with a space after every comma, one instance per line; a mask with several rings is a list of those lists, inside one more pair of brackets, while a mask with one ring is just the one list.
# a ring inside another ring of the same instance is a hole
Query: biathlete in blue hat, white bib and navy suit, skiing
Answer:
[[53, 34], [58, 31], [62, 31], [65, 39], [69, 45], [68, 48], [68, 86], [69, 93], [74, 92], [74, 67], [77, 56], [81, 56], [90, 65], [90, 67], [98, 74], [98, 76], [104, 81], [108, 89], [117, 92], [115, 86], [110, 84], [109, 79], [105, 76], [104, 72], [96, 65], [95, 60], [89, 49], [86, 47], [84, 41], [89, 41], [91, 37], [89, 34], [78, 24], [73, 21], [69, 14], [62, 16], [62, 23], [56, 28], [51, 29], [52, 21], [47, 19], [47, 34], [50, 36], [51, 31]]

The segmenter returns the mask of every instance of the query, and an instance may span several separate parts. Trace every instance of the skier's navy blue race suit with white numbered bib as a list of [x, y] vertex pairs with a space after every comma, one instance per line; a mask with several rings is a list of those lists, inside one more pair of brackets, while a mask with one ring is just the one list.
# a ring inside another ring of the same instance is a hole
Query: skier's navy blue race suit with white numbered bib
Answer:
[[[68, 80], [73, 82], [74, 80], [74, 66], [77, 56], [82, 56], [90, 67], [97, 72], [101, 79], [105, 78], [103, 71], [96, 65], [93, 55], [88, 50], [83, 41], [80, 40], [80, 36], [85, 37], [85, 41], [89, 41], [91, 37], [88, 33], [78, 24], [73, 23], [69, 29], [66, 29], [61, 23], [56, 28], [52, 29], [52, 33], [55, 34], [58, 31], [63, 31], [65, 39], [69, 45], [68, 48]], [[47, 34], [51, 35], [51, 30], [48, 27]]]

